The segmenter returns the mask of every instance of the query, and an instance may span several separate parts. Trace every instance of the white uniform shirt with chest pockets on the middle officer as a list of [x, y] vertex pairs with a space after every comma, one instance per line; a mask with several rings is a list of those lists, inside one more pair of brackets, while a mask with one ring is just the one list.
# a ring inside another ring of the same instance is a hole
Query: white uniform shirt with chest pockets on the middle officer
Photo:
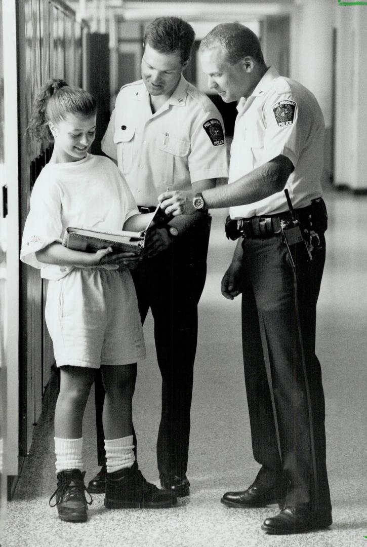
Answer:
[[228, 177], [222, 117], [183, 76], [154, 114], [143, 80], [123, 86], [101, 146], [138, 205], [155, 205], [167, 187], [190, 190], [193, 182]]

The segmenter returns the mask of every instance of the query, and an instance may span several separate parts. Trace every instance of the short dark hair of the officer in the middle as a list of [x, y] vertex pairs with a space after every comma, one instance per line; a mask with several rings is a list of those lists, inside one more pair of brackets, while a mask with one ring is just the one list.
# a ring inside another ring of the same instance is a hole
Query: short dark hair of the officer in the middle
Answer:
[[193, 27], [179, 17], [158, 17], [145, 30], [144, 46], [149, 44], [160, 53], [179, 53], [182, 63], [190, 57], [195, 40]]

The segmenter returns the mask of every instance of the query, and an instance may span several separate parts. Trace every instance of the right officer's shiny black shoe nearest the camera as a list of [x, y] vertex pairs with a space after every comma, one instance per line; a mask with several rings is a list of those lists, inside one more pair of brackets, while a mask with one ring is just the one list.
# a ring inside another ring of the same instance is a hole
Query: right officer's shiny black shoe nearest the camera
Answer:
[[298, 534], [321, 530], [332, 523], [331, 515], [319, 515], [304, 508], [286, 507], [278, 515], [265, 519], [261, 529], [268, 534]]

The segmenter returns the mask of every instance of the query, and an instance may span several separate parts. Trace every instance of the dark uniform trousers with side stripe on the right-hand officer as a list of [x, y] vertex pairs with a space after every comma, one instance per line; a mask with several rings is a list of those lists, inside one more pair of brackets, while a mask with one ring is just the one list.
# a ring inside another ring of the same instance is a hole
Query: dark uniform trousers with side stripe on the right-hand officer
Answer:
[[[288, 487], [286, 507], [330, 515], [325, 402], [315, 354], [316, 304], [325, 238], [296, 276], [281, 237], [248, 238], [243, 248], [242, 342], [252, 447], [260, 488]], [[303, 246], [303, 247], [302, 247]]]

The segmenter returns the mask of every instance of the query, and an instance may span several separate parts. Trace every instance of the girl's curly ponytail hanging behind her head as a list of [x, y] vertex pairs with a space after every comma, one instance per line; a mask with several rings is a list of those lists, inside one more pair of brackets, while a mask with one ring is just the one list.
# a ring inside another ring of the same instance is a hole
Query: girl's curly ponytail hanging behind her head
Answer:
[[36, 98], [34, 98], [31, 117], [27, 127], [28, 136], [34, 143], [42, 143], [48, 146], [50, 142], [53, 142], [53, 136], [48, 125], [49, 118], [46, 115], [47, 104], [56, 91], [67, 85], [61, 79], [48, 80], [39, 90]]

